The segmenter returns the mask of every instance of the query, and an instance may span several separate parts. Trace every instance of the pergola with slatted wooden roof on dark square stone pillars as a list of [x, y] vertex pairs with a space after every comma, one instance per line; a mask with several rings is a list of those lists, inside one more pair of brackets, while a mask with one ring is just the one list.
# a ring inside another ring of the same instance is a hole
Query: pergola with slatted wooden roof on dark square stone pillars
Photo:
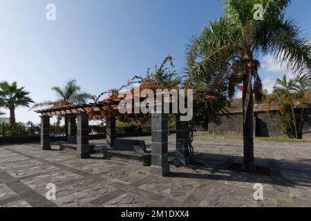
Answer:
[[[77, 157], [88, 158], [89, 135], [88, 135], [88, 108], [94, 111], [104, 111], [107, 104], [117, 110], [120, 100], [109, 100], [97, 104], [67, 105], [46, 108], [35, 111], [41, 114], [41, 147], [50, 150], [50, 117], [62, 116], [68, 120], [67, 134], [68, 143], [73, 143], [76, 137]], [[76, 125], [77, 118], [77, 125]], [[168, 162], [168, 114], [151, 113], [151, 166], [152, 174], [165, 176], [169, 174]], [[115, 142], [115, 117], [106, 119], [106, 142], [109, 148], [113, 148]], [[182, 164], [189, 163], [189, 132], [188, 122], [180, 121], [180, 115], [176, 115], [176, 152], [178, 160]]]

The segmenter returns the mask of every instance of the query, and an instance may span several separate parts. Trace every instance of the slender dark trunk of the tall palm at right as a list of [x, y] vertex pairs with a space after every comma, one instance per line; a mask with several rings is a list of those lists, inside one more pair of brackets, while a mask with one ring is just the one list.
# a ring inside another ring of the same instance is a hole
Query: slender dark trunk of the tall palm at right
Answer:
[[[251, 77], [251, 76], [249, 76]], [[255, 171], [254, 160], [254, 101], [252, 92], [252, 83], [250, 87], [250, 93], [247, 95], [247, 83], [252, 79], [246, 79], [244, 81], [243, 91], [243, 166], [245, 170], [252, 172]], [[245, 110], [245, 101], [249, 96], [249, 104]]]

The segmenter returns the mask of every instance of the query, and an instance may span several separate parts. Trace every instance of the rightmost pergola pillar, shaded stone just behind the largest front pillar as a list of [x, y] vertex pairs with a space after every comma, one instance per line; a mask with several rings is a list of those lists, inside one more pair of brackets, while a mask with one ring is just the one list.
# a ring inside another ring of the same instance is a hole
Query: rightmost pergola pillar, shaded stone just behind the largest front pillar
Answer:
[[180, 121], [180, 116], [176, 115], [176, 151], [178, 162], [183, 165], [189, 164], [189, 129], [188, 122]]

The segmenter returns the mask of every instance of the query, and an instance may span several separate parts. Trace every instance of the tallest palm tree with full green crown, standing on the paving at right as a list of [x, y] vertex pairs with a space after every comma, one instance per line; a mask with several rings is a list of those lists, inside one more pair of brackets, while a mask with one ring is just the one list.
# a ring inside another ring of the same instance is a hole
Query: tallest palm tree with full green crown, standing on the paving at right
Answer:
[[[255, 169], [253, 93], [257, 102], [262, 97], [257, 56], [272, 55], [294, 73], [311, 68], [310, 42], [299, 37], [299, 28], [284, 16], [290, 2], [224, 1], [223, 17], [193, 37], [186, 49], [186, 70], [191, 79], [204, 81], [211, 89], [227, 83], [230, 97], [236, 86], [243, 84], [243, 165], [247, 171]], [[265, 9], [262, 20], [255, 19], [256, 4]]]

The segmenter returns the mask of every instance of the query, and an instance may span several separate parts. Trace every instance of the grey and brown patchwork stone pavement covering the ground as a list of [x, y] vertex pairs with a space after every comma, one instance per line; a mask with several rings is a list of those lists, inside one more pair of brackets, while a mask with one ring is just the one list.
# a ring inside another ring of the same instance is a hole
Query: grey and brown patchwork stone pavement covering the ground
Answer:
[[[150, 137], [145, 140], [150, 149]], [[169, 177], [149, 167], [104, 160], [98, 144], [91, 159], [71, 151], [41, 151], [39, 144], [0, 146], [0, 206], [311, 206], [311, 144], [255, 141], [256, 164], [271, 176], [228, 171], [241, 163], [242, 140], [196, 137], [196, 157], [206, 166], [180, 166], [169, 137]], [[56, 185], [56, 200], [46, 185]], [[254, 200], [254, 184], [263, 200]]]

